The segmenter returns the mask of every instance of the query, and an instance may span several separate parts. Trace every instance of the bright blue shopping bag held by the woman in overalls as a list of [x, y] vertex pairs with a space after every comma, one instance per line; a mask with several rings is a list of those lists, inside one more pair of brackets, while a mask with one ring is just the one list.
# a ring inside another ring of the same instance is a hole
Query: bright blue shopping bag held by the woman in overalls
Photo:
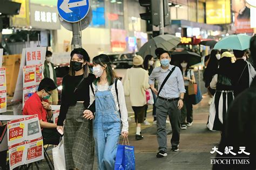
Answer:
[[128, 138], [124, 138], [122, 145], [117, 145], [114, 170], [135, 170], [134, 146], [130, 146]]

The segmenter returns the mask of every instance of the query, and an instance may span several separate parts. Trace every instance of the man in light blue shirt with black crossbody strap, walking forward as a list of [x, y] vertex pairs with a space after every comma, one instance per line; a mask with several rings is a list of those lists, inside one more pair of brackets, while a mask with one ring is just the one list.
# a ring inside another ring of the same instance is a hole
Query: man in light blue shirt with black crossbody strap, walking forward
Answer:
[[[160, 50], [157, 56], [160, 58], [161, 66], [153, 69], [149, 77], [149, 84], [153, 92], [158, 96], [155, 104], [157, 108], [157, 141], [159, 145], [157, 158], [163, 158], [167, 156], [167, 115], [169, 115], [172, 126], [171, 150], [179, 150], [180, 109], [183, 108], [183, 99], [186, 90], [180, 69], [170, 65], [170, 53]], [[158, 81], [158, 90], [154, 88], [155, 80]]]

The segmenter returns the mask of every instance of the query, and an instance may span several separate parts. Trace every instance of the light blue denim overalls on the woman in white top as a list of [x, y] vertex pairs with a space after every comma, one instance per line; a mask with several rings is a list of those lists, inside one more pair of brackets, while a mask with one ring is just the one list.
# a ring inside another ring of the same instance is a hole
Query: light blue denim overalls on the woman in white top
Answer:
[[119, 111], [111, 93], [112, 86], [106, 91], [99, 91], [96, 85], [96, 114], [93, 121], [93, 137], [98, 159], [98, 169], [114, 169], [117, 145], [121, 129]]

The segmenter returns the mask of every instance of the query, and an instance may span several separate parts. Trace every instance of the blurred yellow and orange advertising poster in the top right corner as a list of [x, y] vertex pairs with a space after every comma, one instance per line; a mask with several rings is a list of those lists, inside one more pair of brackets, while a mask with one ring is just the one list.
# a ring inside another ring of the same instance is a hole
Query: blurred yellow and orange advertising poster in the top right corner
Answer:
[[235, 12], [235, 32], [253, 33], [253, 29], [251, 29], [250, 5], [246, 1], [232, 0], [232, 11]]

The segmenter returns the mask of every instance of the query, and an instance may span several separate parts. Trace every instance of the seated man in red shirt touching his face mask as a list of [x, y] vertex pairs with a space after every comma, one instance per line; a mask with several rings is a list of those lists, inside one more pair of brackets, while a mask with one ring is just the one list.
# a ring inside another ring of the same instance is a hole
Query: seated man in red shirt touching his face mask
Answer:
[[56, 129], [57, 124], [48, 122], [52, 110], [47, 100], [54, 89], [56, 89], [55, 82], [50, 78], [44, 78], [39, 84], [38, 91], [26, 101], [22, 114], [38, 115], [44, 144], [58, 145], [60, 136]]

